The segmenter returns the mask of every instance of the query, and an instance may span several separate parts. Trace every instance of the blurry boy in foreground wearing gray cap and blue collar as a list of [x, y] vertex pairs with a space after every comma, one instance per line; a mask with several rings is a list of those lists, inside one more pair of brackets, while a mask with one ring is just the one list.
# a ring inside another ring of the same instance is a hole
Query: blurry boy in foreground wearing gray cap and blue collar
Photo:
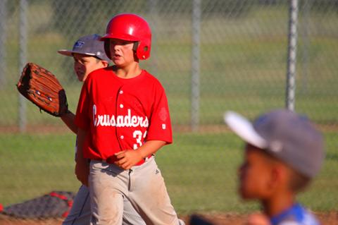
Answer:
[[[244, 200], [259, 200], [270, 221], [266, 224], [319, 224], [296, 202], [296, 194], [320, 170], [323, 138], [304, 116], [286, 109], [263, 114], [251, 125], [234, 112], [225, 115], [228, 126], [245, 142], [239, 168], [239, 193]], [[263, 217], [251, 217], [264, 224]]]

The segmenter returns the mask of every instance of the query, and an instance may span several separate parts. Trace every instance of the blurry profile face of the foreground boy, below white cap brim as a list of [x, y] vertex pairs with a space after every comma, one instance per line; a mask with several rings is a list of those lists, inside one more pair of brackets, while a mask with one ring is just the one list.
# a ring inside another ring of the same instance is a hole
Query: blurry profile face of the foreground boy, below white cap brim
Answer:
[[239, 167], [239, 193], [243, 199], [265, 199], [270, 193], [271, 164], [263, 150], [247, 144]]

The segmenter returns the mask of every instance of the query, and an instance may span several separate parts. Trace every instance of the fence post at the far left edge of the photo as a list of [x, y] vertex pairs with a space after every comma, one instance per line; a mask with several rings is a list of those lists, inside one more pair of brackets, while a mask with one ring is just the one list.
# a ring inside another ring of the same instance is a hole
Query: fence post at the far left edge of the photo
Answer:
[[6, 7], [7, 0], [0, 1], [0, 88], [6, 87]]

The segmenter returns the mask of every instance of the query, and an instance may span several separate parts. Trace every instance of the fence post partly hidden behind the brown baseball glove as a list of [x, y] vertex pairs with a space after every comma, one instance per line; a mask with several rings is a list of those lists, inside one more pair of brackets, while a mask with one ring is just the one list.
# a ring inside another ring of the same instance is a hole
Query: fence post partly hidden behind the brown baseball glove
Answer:
[[[20, 0], [20, 20], [19, 20], [19, 73], [26, 63], [27, 55], [27, 0]], [[26, 130], [26, 102], [25, 97], [19, 95], [19, 129], [23, 133]]]

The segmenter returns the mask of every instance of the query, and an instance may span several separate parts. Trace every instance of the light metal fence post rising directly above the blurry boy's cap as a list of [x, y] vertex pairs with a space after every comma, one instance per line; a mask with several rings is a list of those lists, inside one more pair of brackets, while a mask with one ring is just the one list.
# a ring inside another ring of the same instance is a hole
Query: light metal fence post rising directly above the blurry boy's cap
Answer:
[[286, 107], [294, 111], [296, 90], [296, 47], [297, 47], [297, 21], [298, 0], [291, 0], [289, 6], [289, 37], [287, 49], [287, 91]]

